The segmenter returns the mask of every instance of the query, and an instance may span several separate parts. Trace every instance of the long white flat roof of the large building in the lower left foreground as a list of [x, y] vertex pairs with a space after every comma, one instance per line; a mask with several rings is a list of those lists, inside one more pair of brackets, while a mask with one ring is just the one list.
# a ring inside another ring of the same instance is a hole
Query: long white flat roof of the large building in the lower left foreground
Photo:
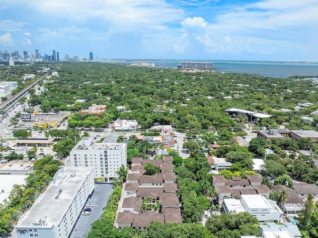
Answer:
[[[58, 174], [57, 177], [57, 174], [54, 176], [57, 180], [56, 183], [50, 183], [30, 210], [22, 215], [16, 226], [52, 227], [58, 225], [77, 195], [75, 191], [79, 190], [92, 170], [93, 168], [65, 167], [64, 172]], [[42, 224], [39, 223], [40, 219], [44, 221]]]

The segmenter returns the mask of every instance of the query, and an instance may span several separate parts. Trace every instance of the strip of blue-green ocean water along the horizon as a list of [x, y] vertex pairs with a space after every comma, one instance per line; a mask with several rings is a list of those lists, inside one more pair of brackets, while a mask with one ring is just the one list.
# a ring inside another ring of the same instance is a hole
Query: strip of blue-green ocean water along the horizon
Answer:
[[147, 59], [96, 59], [95, 62], [135, 64], [155, 63], [162, 68], [176, 68], [184, 61], [212, 62], [214, 71], [258, 74], [264, 77], [318, 76], [318, 62], [257, 61], [257, 60], [147, 60]]

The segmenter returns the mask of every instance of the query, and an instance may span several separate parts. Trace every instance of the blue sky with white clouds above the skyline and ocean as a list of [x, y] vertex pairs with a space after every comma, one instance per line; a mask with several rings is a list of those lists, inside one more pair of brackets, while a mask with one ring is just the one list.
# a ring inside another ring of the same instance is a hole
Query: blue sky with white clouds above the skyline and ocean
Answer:
[[318, 0], [0, 0], [0, 50], [318, 61]]

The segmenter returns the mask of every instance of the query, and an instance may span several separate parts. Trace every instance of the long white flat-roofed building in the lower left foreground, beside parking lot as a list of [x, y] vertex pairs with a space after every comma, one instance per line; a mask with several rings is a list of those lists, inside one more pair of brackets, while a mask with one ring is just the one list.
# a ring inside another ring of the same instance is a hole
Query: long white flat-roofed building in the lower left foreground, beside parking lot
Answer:
[[60, 169], [18, 221], [17, 238], [68, 238], [93, 189], [92, 168]]

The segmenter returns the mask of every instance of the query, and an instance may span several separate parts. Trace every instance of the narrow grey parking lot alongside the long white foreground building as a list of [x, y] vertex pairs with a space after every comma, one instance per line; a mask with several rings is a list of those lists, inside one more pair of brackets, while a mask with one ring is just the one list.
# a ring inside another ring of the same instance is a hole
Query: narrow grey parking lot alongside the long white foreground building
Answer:
[[91, 208], [89, 215], [80, 215], [79, 220], [74, 226], [71, 237], [72, 238], [83, 238], [90, 231], [90, 224], [96, 221], [103, 213], [103, 208], [106, 206], [107, 200], [110, 194], [113, 192], [111, 184], [96, 184], [95, 190], [84, 208], [88, 208], [88, 203], [94, 203], [95, 205]]

